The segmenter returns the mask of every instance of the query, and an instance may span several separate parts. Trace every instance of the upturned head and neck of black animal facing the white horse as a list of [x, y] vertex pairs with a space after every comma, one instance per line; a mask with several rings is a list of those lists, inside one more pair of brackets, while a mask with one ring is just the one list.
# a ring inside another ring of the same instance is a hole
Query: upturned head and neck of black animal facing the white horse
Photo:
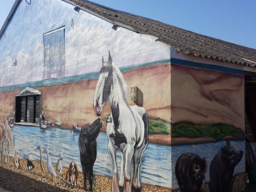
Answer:
[[91, 150], [91, 144], [98, 137], [101, 127], [100, 118], [96, 119], [91, 125], [82, 126], [78, 139], [79, 149], [82, 154], [85, 154], [87, 150]]

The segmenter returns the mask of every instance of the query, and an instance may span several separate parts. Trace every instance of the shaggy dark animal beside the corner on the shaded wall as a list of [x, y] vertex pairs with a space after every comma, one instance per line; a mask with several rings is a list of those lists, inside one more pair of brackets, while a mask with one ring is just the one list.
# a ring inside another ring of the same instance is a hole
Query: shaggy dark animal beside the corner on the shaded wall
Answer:
[[175, 175], [181, 192], [204, 191], [206, 159], [196, 154], [181, 155], [175, 166]]

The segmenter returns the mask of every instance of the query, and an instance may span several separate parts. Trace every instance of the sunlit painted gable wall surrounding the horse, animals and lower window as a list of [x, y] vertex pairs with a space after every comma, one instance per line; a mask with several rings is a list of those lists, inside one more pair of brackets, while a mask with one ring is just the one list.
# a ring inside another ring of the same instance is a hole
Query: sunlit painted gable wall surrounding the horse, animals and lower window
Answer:
[[[83, 187], [84, 182], [79, 133], [71, 132], [72, 124], [81, 127], [100, 118], [102, 127], [93, 167], [96, 175], [94, 190], [102, 191], [102, 187], [108, 187], [111, 191], [113, 172], [106, 134], [109, 122], [104, 121], [104, 117], [111, 113], [110, 103], [99, 117], [93, 106], [102, 57], [108, 61], [110, 51], [113, 65], [120, 70], [126, 83], [124, 87], [137, 86], [138, 100], [129, 101], [128, 105], [142, 106], [149, 119], [149, 142], [143, 156], [140, 155], [139, 180], [144, 190], [147, 186], [170, 191], [170, 48], [159, 45], [150, 36], [112, 27], [112, 24], [85, 11], [75, 11], [74, 6], [64, 1], [20, 1], [0, 39], [0, 117], [15, 117], [15, 96], [20, 91], [26, 87], [38, 90], [41, 110], [46, 118], [42, 123], [49, 120], [52, 124], [46, 130], [26, 123], [11, 128], [13, 147], [20, 154], [20, 166], [27, 169], [26, 158], [29, 156], [35, 165], [31, 171], [52, 179], [47, 166], [45, 173], [40, 168], [42, 160], [46, 165], [47, 159], [51, 159], [57, 175], [66, 180], [68, 167], [74, 161], [79, 170], [78, 187]], [[128, 105], [125, 105], [127, 109]], [[130, 118], [131, 115], [125, 116], [125, 120]], [[56, 121], [61, 125], [57, 126]], [[140, 133], [145, 130], [142, 127]], [[3, 124], [2, 129], [8, 129], [8, 126]], [[129, 143], [131, 139], [134, 142], [132, 145], [141, 145], [141, 138], [147, 140], [146, 136], [135, 136], [130, 130], [125, 134], [132, 134], [128, 138]], [[48, 149], [49, 156], [42, 153], [40, 157], [39, 145], [41, 152]], [[56, 165], [62, 155], [63, 170], [59, 174]], [[117, 159], [119, 166], [120, 153]], [[10, 164], [14, 165], [14, 162]], [[59, 181], [60, 177], [53, 177], [53, 180]]]

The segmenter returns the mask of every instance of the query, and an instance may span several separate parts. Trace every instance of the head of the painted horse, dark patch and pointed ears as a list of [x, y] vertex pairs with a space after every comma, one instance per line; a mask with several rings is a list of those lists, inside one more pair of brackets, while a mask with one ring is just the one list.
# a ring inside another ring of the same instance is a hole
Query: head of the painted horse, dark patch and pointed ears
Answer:
[[102, 67], [100, 70], [99, 80], [96, 86], [93, 108], [97, 116], [101, 115], [101, 112], [109, 100], [110, 93], [113, 85], [113, 67], [112, 58], [109, 51], [108, 61], [104, 61], [102, 57]]

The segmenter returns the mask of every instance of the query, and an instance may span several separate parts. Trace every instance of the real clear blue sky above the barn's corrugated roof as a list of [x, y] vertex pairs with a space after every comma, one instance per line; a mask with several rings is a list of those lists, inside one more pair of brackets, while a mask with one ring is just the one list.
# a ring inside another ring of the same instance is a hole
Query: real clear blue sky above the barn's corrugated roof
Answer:
[[[0, 0], [1, 27], [14, 2], [15, 0]], [[92, 2], [256, 49], [255, 0], [92, 0]]]

